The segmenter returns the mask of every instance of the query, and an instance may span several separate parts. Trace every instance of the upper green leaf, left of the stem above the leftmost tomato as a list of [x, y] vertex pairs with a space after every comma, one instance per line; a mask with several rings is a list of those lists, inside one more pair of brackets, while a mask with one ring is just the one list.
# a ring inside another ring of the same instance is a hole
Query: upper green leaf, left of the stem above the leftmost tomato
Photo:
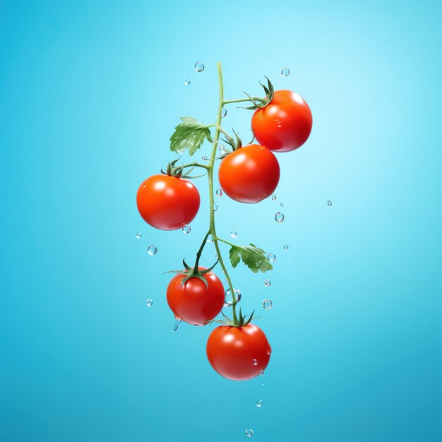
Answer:
[[181, 121], [183, 122], [175, 128], [170, 137], [170, 150], [182, 153], [189, 149], [189, 155], [193, 155], [204, 143], [205, 138], [213, 143], [208, 126], [191, 117], [181, 117]]

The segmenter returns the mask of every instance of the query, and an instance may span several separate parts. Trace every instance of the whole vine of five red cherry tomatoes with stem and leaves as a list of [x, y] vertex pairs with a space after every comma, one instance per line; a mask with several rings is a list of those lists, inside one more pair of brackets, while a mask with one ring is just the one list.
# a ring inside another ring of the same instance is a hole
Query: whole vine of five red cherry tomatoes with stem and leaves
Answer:
[[[222, 83], [220, 65], [218, 73]], [[181, 118], [183, 123], [177, 126], [171, 137], [171, 150], [182, 153], [189, 148], [190, 155], [193, 155], [207, 139], [213, 144], [210, 165], [195, 162], [177, 166], [178, 160], [174, 160], [167, 166], [167, 172], [145, 179], [136, 196], [138, 211], [145, 222], [157, 229], [174, 230], [189, 225], [196, 217], [200, 208], [200, 194], [189, 181], [195, 178], [189, 177], [189, 173], [193, 167], [205, 169], [213, 195], [211, 178], [221, 135], [227, 138], [225, 141], [232, 148], [220, 157], [218, 169], [218, 179], [225, 194], [240, 203], [258, 203], [272, 195], [280, 179], [280, 165], [274, 153], [289, 152], [303, 145], [311, 132], [312, 116], [308, 104], [297, 93], [289, 90], [274, 91], [270, 80], [267, 87], [262, 86], [265, 98], [249, 97], [247, 100], [251, 102], [251, 107], [246, 108], [254, 110], [251, 129], [258, 143], [242, 146], [237, 133], [234, 133], [235, 141], [222, 129], [220, 114], [217, 123], [213, 125], [203, 125], [190, 117]], [[245, 100], [229, 100], [229, 103]], [[220, 109], [226, 103], [222, 101]], [[210, 127], [215, 127], [215, 140], [211, 136]], [[212, 208], [210, 229], [196, 253], [195, 265], [188, 265], [183, 260], [184, 270], [172, 270], [177, 274], [167, 286], [167, 303], [177, 319], [191, 325], [213, 322], [222, 324], [208, 338], [208, 361], [218, 374], [234, 381], [243, 381], [262, 374], [270, 360], [271, 348], [263, 330], [251, 323], [253, 313], [243, 316], [240, 309], [237, 315], [235, 306], [239, 299], [236, 298], [222, 256], [218, 253], [218, 260], [232, 293], [234, 318], [230, 319], [222, 312], [225, 288], [220, 278], [213, 273], [218, 261], [210, 268], [199, 265], [201, 251], [209, 235], [215, 241], [217, 252], [220, 252], [217, 241], [230, 244], [216, 236]], [[241, 259], [254, 272], [272, 269], [262, 249], [253, 244], [230, 245], [232, 249], [229, 255], [233, 267]], [[215, 319], [220, 313], [224, 320]]]

